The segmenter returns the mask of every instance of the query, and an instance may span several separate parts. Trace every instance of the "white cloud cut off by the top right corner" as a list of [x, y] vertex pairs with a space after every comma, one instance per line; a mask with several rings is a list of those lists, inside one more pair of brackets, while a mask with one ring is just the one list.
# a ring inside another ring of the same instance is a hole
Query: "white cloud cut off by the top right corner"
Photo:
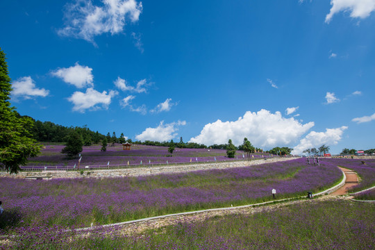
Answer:
[[331, 10], [326, 15], [326, 23], [329, 24], [333, 15], [341, 11], [349, 11], [353, 18], [366, 18], [375, 10], [375, 0], [331, 0]]

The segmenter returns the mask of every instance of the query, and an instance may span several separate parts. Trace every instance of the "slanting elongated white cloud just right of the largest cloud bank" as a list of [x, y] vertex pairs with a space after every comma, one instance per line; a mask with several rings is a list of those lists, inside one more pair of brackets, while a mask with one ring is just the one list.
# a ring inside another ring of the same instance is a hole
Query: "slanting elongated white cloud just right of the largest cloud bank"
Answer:
[[320, 147], [322, 144], [335, 145], [342, 138], [342, 133], [346, 130], [347, 126], [340, 128], [326, 128], [326, 132], [315, 132], [311, 131], [303, 138], [299, 144], [294, 147], [292, 154], [299, 155], [305, 149], [311, 149], [313, 147]]

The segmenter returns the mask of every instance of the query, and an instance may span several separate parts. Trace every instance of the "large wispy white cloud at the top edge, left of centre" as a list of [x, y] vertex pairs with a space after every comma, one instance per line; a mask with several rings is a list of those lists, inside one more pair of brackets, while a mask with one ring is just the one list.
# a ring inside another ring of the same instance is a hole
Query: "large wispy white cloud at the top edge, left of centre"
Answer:
[[94, 37], [103, 33], [122, 33], [128, 19], [137, 22], [142, 2], [135, 0], [102, 0], [95, 6], [91, 0], [76, 0], [65, 6], [65, 26], [59, 35], [79, 38], [94, 43]]

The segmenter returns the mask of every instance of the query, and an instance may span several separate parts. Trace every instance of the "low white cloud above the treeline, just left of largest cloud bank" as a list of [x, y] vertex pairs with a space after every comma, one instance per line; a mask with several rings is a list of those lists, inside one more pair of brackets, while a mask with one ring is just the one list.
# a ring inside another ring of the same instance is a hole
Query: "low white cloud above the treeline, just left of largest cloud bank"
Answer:
[[175, 132], [178, 131], [178, 126], [184, 125], [186, 125], [185, 121], [172, 122], [170, 124], [164, 124], [162, 121], [156, 128], [146, 128], [140, 135], [136, 135], [135, 139], [141, 141], [153, 140], [157, 142], [169, 141], [176, 138], [177, 133]]

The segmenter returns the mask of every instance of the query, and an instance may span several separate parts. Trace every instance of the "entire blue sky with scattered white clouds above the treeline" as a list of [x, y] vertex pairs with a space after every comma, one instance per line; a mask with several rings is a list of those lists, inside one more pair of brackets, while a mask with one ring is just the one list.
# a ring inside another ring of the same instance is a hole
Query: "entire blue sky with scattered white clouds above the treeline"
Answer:
[[1, 6], [22, 115], [143, 141], [375, 147], [375, 0]]

